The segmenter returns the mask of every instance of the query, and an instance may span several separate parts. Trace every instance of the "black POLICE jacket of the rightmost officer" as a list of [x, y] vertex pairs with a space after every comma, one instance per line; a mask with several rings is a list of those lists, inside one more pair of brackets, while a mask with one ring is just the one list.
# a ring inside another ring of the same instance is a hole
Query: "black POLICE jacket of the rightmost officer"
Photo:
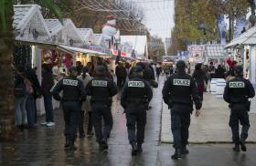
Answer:
[[251, 82], [242, 76], [233, 78], [227, 82], [223, 99], [228, 103], [245, 103], [255, 96]]

